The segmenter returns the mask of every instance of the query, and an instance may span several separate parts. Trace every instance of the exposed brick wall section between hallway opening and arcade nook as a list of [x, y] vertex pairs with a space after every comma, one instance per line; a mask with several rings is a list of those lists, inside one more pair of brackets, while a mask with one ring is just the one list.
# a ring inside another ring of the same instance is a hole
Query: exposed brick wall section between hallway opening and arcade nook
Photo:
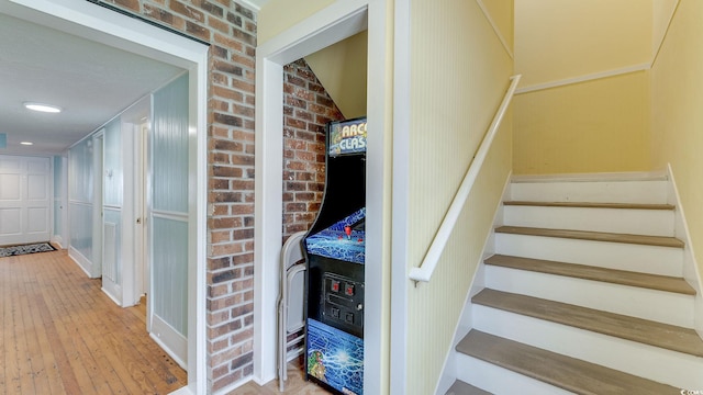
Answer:
[[253, 373], [256, 14], [232, 0], [108, 0], [211, 44], [208, 86], [208, 381]]

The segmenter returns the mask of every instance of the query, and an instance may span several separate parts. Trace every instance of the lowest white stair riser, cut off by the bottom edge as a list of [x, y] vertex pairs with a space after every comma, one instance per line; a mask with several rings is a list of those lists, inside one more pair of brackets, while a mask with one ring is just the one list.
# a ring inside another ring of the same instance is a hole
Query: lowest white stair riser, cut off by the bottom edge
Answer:
[[457, 379], [466, 383], [489, 391], [493, 394], [525, 394], [525, 395], [567, 395], [572, 394], [559, 387], [549, 385], [496, 366], [492, 363], [457, 353]]

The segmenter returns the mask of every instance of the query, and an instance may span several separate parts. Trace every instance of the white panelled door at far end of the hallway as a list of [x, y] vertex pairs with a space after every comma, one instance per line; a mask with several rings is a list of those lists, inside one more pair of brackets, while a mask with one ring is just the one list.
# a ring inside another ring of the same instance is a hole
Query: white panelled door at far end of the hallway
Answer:
[[0, 155], [0, 246], [48, 241], [49, 158]]

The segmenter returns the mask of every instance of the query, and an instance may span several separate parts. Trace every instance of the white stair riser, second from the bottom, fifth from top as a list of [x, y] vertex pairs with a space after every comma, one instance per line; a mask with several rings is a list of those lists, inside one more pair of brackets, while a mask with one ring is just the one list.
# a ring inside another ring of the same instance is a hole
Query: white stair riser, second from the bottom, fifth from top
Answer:
[[475, 328], [681, 388], [703, 388], [703, 358], [476, 305]]

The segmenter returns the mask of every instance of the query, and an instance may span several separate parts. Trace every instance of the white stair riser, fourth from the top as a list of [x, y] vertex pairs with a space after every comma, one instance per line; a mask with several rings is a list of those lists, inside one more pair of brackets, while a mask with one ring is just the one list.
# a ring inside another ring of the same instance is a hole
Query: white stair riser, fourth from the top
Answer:
[[693, 328], [694, 296], [488, 264], [486, 286]]

